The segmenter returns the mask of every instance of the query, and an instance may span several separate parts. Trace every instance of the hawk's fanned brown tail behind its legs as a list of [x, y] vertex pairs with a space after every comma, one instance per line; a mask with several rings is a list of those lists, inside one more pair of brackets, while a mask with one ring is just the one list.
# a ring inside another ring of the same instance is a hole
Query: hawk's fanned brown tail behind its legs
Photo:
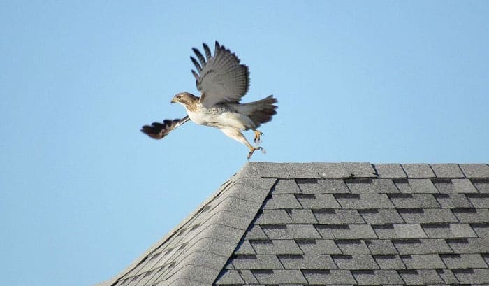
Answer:
[[240, 111], [253, 121], [255, 128], [258, 128], [261, 124], [272, 120], [272, 116], [277, 114], [277, 106], [274, 105], [277, 102], [277, 99], [270, 95], [258, 101], [240, 104]]

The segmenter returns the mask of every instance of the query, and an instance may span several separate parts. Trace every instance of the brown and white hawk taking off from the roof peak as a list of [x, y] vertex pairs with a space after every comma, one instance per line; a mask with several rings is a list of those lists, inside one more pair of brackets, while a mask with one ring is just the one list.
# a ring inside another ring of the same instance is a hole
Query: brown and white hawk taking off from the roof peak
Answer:
[[[189, 92], [180, 92], [173, 96], [171, 103], [180, 103], [187, 110], [187, 116], [182, 119], [163, 120], [145, 125], [141, 131], [154, 139], [167, 136], [170, 131], [191, 120], [192, 122], [221, 130], [226, 136], [245, 144], [249, 148], [247, 158], [253, 152], [261, 150], [261, 124], [272, 120], [277, 114], [277, 99], [272, 95], [264, 99], [249, 103], [240, 103], [248, 92], [249, 71], [248, 66], [240, 64], [240, 59], [219, 45], [216, 41], [214, 55], [209, 47], [203, 43], [205, 57], [196, 48], [192, 48], [198, 61], [190, 57], [197, 71], [192, 70], [196, 78], [196, 86], [200, 97]], [[251, 145], [242, 131], [253, 130], [254, 143]]]

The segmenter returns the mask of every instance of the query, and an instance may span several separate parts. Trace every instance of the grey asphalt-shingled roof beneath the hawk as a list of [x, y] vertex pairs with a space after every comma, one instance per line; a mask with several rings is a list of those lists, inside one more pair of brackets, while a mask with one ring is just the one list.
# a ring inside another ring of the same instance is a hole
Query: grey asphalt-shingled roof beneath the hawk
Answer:
[[247, 163], [100, 285], [483, 285], [488, 164]]

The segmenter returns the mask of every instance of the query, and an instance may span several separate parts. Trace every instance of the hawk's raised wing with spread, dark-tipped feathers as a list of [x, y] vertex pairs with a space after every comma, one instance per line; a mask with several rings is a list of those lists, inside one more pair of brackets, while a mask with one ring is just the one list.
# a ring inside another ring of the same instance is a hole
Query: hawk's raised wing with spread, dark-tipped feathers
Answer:
[[202, 93], [200, 103], [206, 107], [217, 103], [238, 103], [248, 92], [248, 66], [240, 64], [240, 59], [217, 41], [214, 55], [205, 43], [203, 47], [205, 57], [196, 48], [192, 50], [198, 61], [190, 57], [197, 69], [197, 72], [192, 70], [192, 74], [196, 78], [197, 89]]

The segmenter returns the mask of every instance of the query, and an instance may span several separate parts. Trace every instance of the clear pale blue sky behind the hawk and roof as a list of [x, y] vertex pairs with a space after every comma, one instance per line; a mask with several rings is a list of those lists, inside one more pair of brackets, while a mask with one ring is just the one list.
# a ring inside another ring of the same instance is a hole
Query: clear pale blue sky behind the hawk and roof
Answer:
[[[219, 40], [269, 94], [267, 162], [489, 162], [488, 1], [1, 1], [3, 285], [115, 275], [246, 162], [217, 129], [143, 124], [198, 94]], [[251, 134], [248, 134], [251, 138]]]

